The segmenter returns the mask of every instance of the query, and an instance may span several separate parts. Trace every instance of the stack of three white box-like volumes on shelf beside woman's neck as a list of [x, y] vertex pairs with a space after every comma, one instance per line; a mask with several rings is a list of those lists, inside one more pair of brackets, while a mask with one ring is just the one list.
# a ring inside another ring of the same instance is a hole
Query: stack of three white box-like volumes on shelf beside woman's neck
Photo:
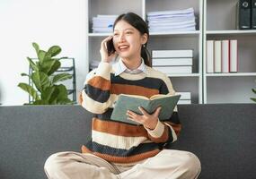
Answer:
[[193, 50], [152, 50], [152, 66], [167, 75], [192, 73]]

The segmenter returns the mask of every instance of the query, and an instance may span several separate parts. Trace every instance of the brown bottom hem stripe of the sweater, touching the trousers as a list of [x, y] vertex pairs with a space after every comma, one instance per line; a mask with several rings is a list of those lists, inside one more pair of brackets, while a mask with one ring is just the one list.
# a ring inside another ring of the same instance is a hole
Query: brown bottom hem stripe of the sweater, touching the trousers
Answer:
[[152, 158], [156, 154], [160, 152], [160, 149], [154, 149], [152, 151], [148, 151], [145, 153], [137, 154], [130, 157], [116, 157], [116, 156], [110, 156], [107, 154], [101, 154], [98, 152], [93, 152], [90, 149], [87, 149], [84, 145], [82, 146], [82, 153], [91, 153], [95, 156], [98, 156], [100, 158], [103, 158], [109, 162], [115, 162], [115, 163], [131, 163], [131, 162], [137, 162], [146, 158]]

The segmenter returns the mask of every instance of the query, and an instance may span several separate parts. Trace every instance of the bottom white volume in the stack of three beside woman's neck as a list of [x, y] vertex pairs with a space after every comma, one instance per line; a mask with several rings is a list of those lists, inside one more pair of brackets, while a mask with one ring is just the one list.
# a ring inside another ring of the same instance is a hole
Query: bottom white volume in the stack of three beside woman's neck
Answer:
[[153, 66], [153, 68], [166, 74], [192, 73], [192, 66]]

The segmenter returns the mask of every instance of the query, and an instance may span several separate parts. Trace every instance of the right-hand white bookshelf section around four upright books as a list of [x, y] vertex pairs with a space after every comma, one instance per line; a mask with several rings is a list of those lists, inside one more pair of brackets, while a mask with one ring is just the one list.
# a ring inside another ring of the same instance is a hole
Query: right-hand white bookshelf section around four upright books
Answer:
[[[237, 0], [205, 0], [203, 27], [204, 103], [252, 103], [256, 86], [256, 30], [237, 30]], [[237, 39], [238, 72], [207, 73], [206, 41]]]

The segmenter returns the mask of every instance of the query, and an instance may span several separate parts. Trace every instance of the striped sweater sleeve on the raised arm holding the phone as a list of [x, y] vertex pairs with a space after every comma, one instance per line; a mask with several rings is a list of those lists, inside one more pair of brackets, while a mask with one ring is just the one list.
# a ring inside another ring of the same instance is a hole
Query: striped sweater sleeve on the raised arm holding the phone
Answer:
[[100, 63], [97, 69], [89, 72], [81, 93], [81, 105], [94, 114], [104, 113], [112, 104], [110, 100], [109, 63]]

